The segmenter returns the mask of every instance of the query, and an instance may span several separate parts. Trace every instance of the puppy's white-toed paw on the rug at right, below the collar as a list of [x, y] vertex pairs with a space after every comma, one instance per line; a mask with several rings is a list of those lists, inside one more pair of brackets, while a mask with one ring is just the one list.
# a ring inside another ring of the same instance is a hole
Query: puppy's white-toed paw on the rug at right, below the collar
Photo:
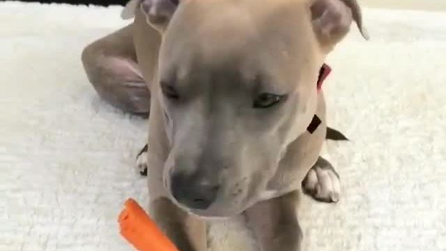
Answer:
[[341, 197], [339, 175], [330, 162], [319, 157], [302, 181], [302, 190], [317, 201], [337, 202]]

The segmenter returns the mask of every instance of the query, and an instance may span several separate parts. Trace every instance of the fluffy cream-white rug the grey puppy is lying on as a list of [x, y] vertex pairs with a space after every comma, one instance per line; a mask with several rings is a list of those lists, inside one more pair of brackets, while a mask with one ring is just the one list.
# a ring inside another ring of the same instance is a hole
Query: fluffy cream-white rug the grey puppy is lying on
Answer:
[[[123, 201], [146, 204], [134, 155], [146, 121], [100, 100], [82, 47], [126, 22], [120, 7], [0, 3], [0, 250], [132, 250]], [[305, 197], [304, 250], [446, 250], [446, 13], [364, 10], [328, 63], [339, 204]], [[212, 250], [254, 250], [236, 224]], [[228, 248], [229, 247], [229, 248]]]

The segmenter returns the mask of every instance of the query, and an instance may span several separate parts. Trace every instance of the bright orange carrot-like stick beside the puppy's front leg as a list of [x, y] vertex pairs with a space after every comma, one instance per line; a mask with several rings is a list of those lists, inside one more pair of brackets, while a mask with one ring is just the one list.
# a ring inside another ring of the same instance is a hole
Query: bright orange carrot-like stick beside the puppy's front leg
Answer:
[[134, 199], [125, 201], [118, 222], [121, 235], [138, 251], [178, 251]]

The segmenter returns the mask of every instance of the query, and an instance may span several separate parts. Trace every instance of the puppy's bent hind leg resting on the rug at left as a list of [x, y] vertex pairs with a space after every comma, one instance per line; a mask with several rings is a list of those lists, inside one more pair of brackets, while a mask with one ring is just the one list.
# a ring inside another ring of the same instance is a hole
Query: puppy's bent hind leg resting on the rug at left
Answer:
[[147, 115], [150, 92], [137, 64], [132, 26], [88, 45], [82, 52], [82, 63], [101, 98], [125, 112]]

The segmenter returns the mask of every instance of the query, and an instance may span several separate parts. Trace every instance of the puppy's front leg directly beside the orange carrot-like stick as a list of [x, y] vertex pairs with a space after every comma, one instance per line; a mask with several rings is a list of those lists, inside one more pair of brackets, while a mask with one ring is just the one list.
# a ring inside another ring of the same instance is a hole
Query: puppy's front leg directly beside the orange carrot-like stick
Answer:
[[151, 201], [151, 217], [180, 251], [206, 251], [206, 223], [167, 198]]

